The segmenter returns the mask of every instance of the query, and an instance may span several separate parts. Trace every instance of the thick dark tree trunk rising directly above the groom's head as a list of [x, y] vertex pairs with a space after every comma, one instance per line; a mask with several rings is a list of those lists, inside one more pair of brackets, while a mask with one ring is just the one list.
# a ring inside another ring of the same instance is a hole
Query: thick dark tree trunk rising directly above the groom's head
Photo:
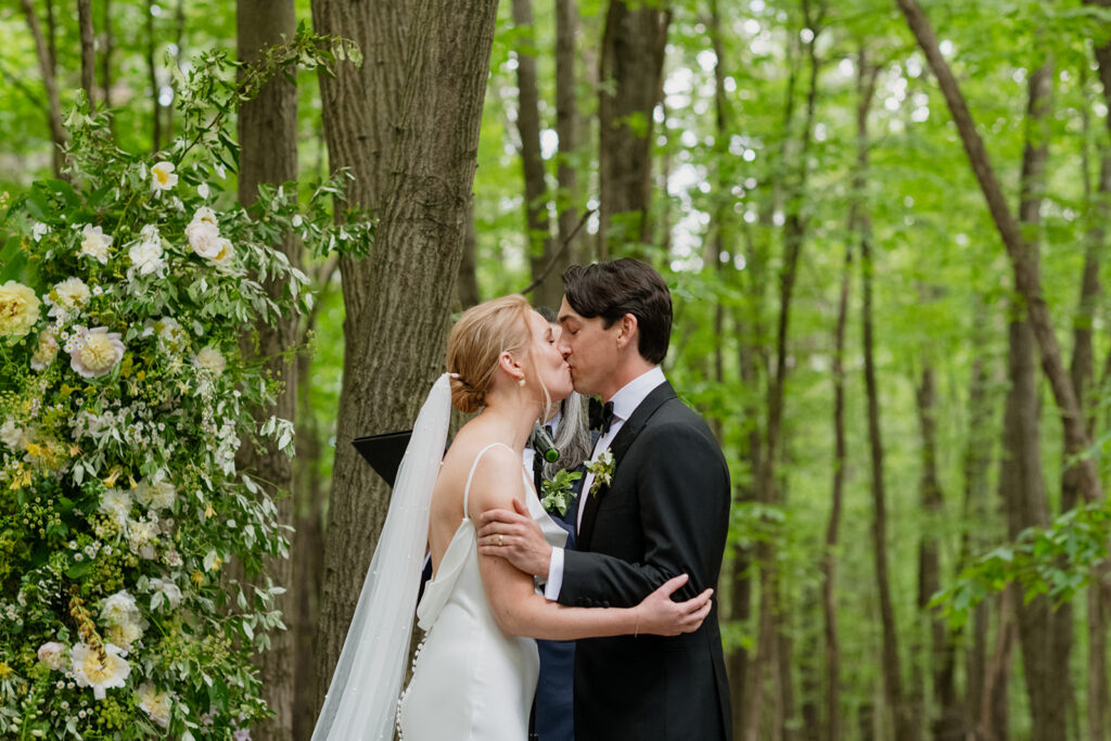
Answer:
[[659, 100], [671, 11], [610, 0], [602, 34], [600, 259], [644, 258], [651, 203], [652, 111]]

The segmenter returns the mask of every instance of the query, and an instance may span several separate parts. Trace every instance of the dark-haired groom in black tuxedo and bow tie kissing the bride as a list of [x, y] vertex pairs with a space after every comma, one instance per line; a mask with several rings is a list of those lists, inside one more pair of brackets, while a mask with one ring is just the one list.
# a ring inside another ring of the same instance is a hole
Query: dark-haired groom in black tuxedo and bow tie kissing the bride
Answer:
[[[588, 473], [575, 550], [550, 548], [531, 519], [482, 515], [480, 551], [547, 579], [561, 604], [632, 607], [680, 573], [675, 599], [715, 587], [729, 525], [729, 470], [702, 419], [675, 397], [659, 363], [671, 336], [671, 294], [649, 266], [617, 260], [563, 273], [559, 311], [574, 389], [607, 402]], [[598, 480], [595, 482], [595, 479]], [[730, 738], [718, 609], [693, 633], [578, 642], [577, 741]]]

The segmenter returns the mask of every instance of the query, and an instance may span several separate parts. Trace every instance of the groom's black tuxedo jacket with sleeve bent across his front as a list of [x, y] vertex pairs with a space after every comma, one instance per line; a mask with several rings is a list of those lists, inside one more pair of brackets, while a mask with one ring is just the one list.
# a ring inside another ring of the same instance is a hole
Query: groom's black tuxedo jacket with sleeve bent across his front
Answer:
[[[709, 427], [657, 387], [621, 427], [609, 487], [589, 497], [559, 601], [632, 607], [671, 577], [675, 599], [717, 588], [729, 530], [729, 469]], [[693, 633], [581, 640], [574, 663], [577, 741], [713, 741], [731, 735], [717, 594]]]

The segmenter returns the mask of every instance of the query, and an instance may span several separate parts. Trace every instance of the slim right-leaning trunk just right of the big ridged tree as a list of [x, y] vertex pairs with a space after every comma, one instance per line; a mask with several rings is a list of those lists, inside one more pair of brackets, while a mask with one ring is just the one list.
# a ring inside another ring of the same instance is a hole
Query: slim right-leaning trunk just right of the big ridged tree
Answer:
[[544, 268], [552, 258], [551, 227], [548, 223], [548, 183], [540, 152], [540, 92], [537, 89], [536, 39], [532, 34], [532, 0], [512, 0], [517, 37], [517, 130], [521, 136], [521, 168], [524, 173], [524, 226], [529, 243], [532, 280], [540, 281], [533, 301], [557, 308], [563, 296], [560, 274]]

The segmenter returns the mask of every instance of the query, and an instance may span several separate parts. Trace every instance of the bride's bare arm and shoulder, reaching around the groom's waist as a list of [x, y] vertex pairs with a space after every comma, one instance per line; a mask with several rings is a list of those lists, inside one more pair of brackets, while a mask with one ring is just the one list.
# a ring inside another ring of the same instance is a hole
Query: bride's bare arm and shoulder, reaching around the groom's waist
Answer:
[[[513, 481], [516, 487], [507, 485]], [[489, 509], [512, 509], [514, 492], [524, 495], [520, 460], [509, 450], [491, 450], [474, 472], [469, 517], [478, 522], [479, 515]], [[504, 559], [480, 554], [479, 571], [494, 620], [504, 632], [550, 640], [690, 632], [709, 614], [713, 592], [708, 589], [692, 600], [672, 602], [671, 593], [687, 582], [684, 574], [668, 581], [633, 608], [571, 608], [537, 594], [532, 577]]]

